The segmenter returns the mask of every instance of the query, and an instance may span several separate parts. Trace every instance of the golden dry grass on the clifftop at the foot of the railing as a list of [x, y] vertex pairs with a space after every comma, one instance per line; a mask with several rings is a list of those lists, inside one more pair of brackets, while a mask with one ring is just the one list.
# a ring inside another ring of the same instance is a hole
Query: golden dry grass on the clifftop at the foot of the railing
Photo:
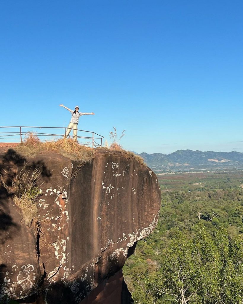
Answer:
[[29, 132], [23, 143], [14, 148], [17, 152], [27, 157], [34, 157], [45, 152], [56, 152], [75, 161], [90, 162], [94, 151], [92, 148], [81, 146], [70, 138], [61, 138], [51, 142], [41, 142], [39, 138]]

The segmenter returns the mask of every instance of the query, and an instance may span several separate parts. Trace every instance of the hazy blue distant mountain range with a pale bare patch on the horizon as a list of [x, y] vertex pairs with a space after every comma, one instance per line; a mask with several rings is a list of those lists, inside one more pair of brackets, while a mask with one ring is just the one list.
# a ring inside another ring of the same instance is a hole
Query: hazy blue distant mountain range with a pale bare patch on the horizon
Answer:
[[170, 154], [141, 153], [145, 163], [156, 170], [185, 170], [185, 169], [214, 169], [214, 168], [243, 168], [243, 153], [177, 150]]

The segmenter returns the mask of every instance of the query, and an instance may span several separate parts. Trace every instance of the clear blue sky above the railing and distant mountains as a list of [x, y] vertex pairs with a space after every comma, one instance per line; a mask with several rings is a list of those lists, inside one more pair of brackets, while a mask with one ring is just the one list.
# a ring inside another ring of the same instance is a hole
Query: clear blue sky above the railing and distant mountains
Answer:
[[243, 151], [242, 1], [0, 3], [2, 126], [67, 126], [138, 153]]

